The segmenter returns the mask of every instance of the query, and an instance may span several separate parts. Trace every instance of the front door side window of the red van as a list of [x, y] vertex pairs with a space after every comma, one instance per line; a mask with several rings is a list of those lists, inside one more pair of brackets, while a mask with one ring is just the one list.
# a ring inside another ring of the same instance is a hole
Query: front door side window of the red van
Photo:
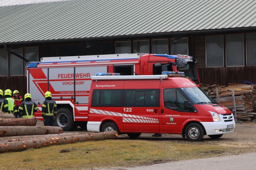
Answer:
[[164, 107], [179, 107], [184, 109], [184, 100], [187, 100], [178, 89], [164, 89]]

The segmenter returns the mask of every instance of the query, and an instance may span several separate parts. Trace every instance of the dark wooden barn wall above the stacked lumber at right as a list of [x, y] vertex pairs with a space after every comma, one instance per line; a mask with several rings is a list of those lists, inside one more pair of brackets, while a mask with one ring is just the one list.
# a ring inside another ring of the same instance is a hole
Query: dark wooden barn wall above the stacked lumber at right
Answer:
[[244, 81], [256, 83], [256, 67], [198, 68], [203, 85], [242, 84]]

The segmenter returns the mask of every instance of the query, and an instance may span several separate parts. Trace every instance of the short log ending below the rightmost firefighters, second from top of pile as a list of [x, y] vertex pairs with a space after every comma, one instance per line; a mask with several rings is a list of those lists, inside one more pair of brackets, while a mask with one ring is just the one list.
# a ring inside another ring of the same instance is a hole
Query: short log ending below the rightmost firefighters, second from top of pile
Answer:
[[36, 126], [36, 118], [0, 118], [0, 126]]

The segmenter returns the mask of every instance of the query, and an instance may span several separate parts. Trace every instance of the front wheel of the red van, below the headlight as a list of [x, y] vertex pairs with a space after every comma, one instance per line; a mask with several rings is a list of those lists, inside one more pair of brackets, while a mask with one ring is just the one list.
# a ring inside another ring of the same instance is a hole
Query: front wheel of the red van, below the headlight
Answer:
[[198, 142], [203, 139], [204, 131], [200, 124], [192, 123], [186, 127], [186, 138], [192, 142]]

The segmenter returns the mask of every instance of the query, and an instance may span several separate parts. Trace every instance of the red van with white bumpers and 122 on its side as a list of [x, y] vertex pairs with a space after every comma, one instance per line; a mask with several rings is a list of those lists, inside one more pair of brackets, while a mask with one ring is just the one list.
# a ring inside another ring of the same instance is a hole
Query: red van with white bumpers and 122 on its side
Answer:
[[233, 132], [232, 112], [180, 72], [145, 76], [92, 76], [88, 131], [180, 134], [190, 141]]

